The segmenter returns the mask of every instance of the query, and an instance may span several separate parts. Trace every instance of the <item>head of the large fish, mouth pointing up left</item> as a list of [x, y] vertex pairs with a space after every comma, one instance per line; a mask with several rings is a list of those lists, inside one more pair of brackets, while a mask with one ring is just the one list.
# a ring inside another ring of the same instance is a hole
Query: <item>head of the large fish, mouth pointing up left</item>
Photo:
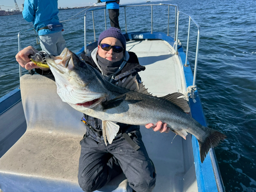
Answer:
[[65, 48], [59, 56], [46, 61], [54, 75], [57, 94], [63, 102], [82, 108], [94, 108], [106, 98], [101, 74]]

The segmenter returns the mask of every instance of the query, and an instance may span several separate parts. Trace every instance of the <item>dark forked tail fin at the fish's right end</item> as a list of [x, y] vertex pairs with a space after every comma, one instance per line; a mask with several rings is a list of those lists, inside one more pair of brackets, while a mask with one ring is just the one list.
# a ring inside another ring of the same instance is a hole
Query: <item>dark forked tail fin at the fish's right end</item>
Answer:
[[[206, 129], [209, 129], [208, 127], [205, 127]], [[205, 141], [202, 143], [198, 140], [199, 142], [199, 148], [200, 148], [200, 159], [201, 162], [203, 163], [208, 151], [210, 148], [216, 147], [220, 144], [221, 140], [223, 141], [225, 138], [227, 138], [226, 135], [223, 133], [220, 133], [216, 130], [210, 130], [209, 136], [205, 139]]]

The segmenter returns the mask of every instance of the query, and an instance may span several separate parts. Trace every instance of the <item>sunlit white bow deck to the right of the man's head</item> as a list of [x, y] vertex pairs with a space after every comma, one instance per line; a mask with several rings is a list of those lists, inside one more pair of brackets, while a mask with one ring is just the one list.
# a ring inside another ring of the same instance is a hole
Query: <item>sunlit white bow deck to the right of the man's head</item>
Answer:
[[[153, 95], [185, 93], [184, 79], [179, 73], [182, 68], [175, 50], [163, 40], [129, 41], [127, 51], [136, 53], [140, 65], [146, 67], [140, 72], [141, 79]], [[177, 73], [178, 72], [178, 73]]]

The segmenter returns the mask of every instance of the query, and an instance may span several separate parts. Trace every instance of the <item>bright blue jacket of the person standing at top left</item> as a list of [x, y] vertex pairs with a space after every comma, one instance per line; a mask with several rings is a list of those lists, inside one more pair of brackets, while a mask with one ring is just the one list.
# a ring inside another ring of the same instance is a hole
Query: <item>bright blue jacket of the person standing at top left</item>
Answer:
[[27, 22], [33, 22], [38, 35], [46, 35], [62, 30], [62, 27], [58, 27], [54, 28], [54, 31], [49, 29], [38, 31], [49, 24], [59, 24], [58, 12], [58, 0], [25, 0], [22, 14]]

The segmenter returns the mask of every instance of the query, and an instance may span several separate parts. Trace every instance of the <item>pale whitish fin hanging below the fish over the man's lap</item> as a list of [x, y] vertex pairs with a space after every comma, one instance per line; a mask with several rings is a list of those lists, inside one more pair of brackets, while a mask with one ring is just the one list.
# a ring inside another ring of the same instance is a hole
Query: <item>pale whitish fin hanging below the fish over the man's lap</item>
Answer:
[[[108, 139], [111, 144], [113, 139], [115, 139], [116, 134], [119, 131], [119, 125], [112, 121], [102, 121], [102, 135], [104, 142], [106, 144], [106, 139]], [[106, 144], [107, 145], [107, 144]]]

